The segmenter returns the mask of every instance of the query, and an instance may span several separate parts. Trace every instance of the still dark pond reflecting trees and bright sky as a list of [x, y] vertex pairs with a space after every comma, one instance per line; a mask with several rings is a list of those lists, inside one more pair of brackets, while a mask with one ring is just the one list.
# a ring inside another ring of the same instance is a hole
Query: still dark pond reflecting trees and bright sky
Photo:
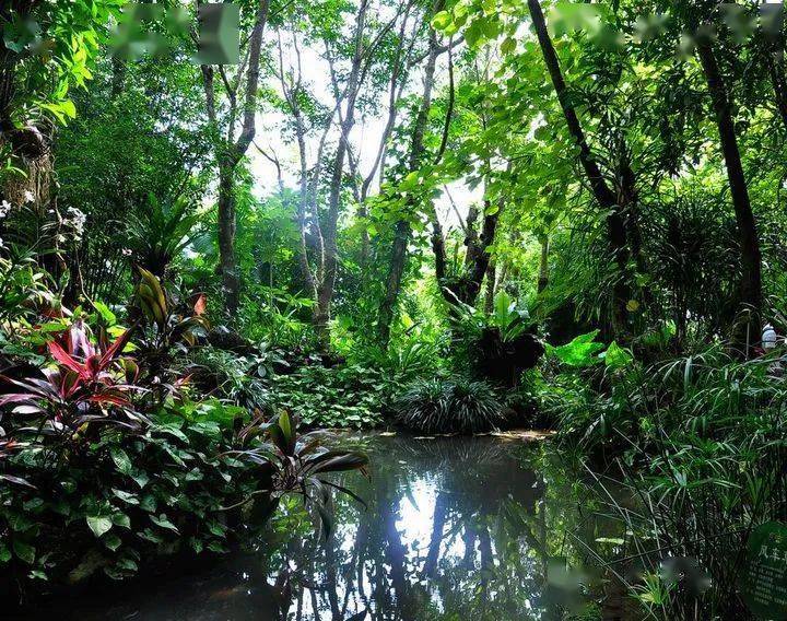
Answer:
[[610, 532], [544, 452], [549, 443], [349, 440], [368, 452], [371, 477], [336, 482], [366, 506], [337, 494], [327, 543], [293, 500], [263, 535], [218, 565], [153, 585], [142, 578], [85, 606], [60, 605], [58, 618], [524, 620], [561, 619], [559, 605], [600, 618], [603, 611], [587, 604], [595, 577], [566, 567], [578, 567], [586, 552], [602, 553], [597, 540]]

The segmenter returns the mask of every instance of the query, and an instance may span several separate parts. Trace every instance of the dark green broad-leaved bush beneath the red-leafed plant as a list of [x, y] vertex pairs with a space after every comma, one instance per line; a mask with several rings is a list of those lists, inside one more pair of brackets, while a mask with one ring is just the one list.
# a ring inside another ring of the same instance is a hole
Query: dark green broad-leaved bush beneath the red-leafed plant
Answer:
[[20, 578], [79, 582], [96, 571], [121, 578], [183, 548], [225, 551], [223, 507], [260, 481], [223, 455], [232, 445], [225, 409], [193, 410], [188, 423], [162, 412], [142, 433], [105, 426], [81, 450], [36, 442], [10, 450], [2, 471], [16, 484], [0, 488], [0, 567], [15, 561]]

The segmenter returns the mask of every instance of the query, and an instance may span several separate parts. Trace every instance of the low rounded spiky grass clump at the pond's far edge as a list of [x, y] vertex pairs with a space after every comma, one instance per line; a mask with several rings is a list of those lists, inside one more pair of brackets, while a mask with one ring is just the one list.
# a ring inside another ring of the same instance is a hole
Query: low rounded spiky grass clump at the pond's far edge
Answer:
[[494, 389], [465, 378], [416, 382], [399, 399], [396, 411], [401, 424], [421, 433], [483, 433], [504, 422]]

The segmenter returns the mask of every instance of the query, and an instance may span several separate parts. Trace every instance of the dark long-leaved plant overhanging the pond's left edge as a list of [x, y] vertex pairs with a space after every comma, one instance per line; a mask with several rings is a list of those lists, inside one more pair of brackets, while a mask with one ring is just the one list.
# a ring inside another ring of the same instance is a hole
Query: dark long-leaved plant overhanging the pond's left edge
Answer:
[[[298, 434], [297, 422], [285, 411], [269, 422], [254, 421], [240, 433], [246, 441], [258, 436], [262, 436], [265, 442], [233, 454], [256, 464], [269, 476], [268, 492], [273, 503], [284, 494], [299, 494], [304, 503], [317, 511], [326, 537], [332, 530], [329, 511], [331, 488], [363, 503], [352, 491], [324, 476], [348, 470], [365, 472], [368, 466], [365, 454], [329, 449], [324, 446], [324, 436], [318, 432]], [[272, 511], [274, 506], [267, 506], [267, 511]]]

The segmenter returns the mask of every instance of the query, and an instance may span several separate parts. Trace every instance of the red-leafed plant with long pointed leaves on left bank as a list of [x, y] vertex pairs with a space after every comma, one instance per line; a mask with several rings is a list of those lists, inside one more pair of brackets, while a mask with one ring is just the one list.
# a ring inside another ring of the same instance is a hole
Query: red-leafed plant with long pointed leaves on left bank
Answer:
[[13, 405], [15, 414], [47, 417], [42, 431], [50, 433], [70, 433], [90, 422], [138, 426], [143, 418], [130, 395], [141, 390], [133, 385], [139, 368], [121, 355], [130, 337], [126, 330], [115, 342], [102, 337], [95, 345], [82, 321], [74, 323], [59, 341], [48, 343], [57, 366], [43, 370], [43, 377], [0, 376], [15, 390], [0, 395], [0, 406]]

